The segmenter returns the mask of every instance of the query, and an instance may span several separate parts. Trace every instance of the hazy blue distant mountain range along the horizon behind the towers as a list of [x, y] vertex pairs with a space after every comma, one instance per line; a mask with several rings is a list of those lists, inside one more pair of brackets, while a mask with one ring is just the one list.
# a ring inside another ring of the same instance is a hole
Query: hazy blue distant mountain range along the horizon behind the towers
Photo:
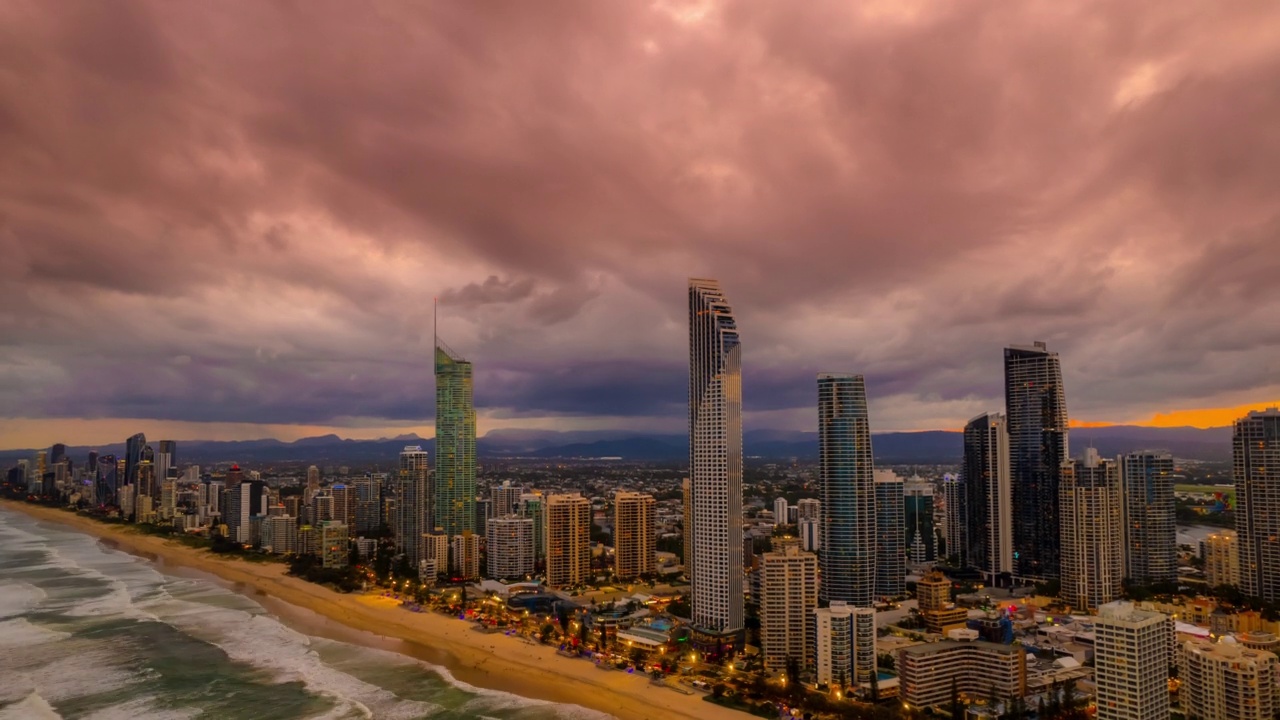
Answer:
[[[749, 430], [744, 436], [749, 457], [815, 460], [818, 434], [792, 430]], [[310, 437], [294, 442], [278, 439], [252, 441], [182, 441], [179, 462], [310, 462], [316, 465], [390, 466], [406, 445], [421, 445], [434, 451], [434, 441], [416, 434], [383, 439], [344, 439], [335, 434]], [[1167, 450], [1189, 460], [1229, 460], [1231, 428], [1147, 428], [1108, 425], [1071, 430], [1073, 454], [1093, 446], [1103, 456], [1134, 450]], [[881, 433], [872, 436], [872, 448], [878, 464], [952, 464], [961, 456], [961, 434], [950, 430], [916, 433]], [[83, 460], [90, 450], [100, 454], [124, 452], [124, 443], [99, 447], [68, 447], [73, 460]], [[481, 459], [593, 459], [621, 457], [635, 461], [681, 462], [689, 457], [689, 441], [684, 434], [646, 434], [627, 430], [493, 430], [476, 441]], [[0, 451], [0, 468], [18, 459], [31, 457], [35, 450]]]

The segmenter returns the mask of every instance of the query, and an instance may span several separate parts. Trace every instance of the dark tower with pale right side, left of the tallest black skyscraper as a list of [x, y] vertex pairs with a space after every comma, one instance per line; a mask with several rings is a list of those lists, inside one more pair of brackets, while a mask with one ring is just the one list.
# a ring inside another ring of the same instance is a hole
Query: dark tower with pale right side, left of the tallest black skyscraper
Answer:
[[1012, 505], [1005, 415], [984, 413], [964, 428], [965, 565], [988, 583], [1014, 569]]

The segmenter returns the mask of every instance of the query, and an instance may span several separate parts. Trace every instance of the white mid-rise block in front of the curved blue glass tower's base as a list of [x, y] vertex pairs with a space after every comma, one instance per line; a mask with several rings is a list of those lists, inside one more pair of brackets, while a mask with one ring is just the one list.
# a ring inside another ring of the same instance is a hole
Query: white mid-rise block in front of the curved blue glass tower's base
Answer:
[[812, 615], [814, 676], [819, 684], [869, 683], [876, 671], [876, 610], [836, 601]]

